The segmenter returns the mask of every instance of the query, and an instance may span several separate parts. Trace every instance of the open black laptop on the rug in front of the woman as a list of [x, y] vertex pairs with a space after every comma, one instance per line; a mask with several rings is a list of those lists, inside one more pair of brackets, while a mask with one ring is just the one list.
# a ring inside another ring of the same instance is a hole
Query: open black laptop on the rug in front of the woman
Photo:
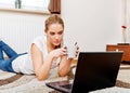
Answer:
[[122, 52], [80, 52], [73, 81], [47, 82], [62, 93], [88, 93], [114, 87]]

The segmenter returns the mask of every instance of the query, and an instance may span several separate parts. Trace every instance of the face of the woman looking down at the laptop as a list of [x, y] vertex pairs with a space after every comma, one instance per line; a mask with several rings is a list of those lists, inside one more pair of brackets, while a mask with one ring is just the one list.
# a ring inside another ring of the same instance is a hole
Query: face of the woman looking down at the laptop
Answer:
[[61, 24], [51, 24], [47, 30], [47, 39], [51, 45], [57, 46], [63, 40], [63, 26]]

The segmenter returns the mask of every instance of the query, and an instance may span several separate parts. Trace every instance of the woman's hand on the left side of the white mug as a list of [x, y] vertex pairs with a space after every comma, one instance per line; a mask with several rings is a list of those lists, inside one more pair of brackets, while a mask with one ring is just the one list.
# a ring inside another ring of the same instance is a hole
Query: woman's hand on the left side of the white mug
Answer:
[[55, 49], [50, 52], [50, 55], [53, 56], [53, 58], [57, 58], [60, 56], [67, 55], [67, 50], [66, 48]]

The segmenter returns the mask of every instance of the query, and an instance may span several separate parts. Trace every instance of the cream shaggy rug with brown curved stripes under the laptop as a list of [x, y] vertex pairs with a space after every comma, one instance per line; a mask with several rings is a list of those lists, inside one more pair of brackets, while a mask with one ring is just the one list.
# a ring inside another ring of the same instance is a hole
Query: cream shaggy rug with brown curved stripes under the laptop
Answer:
[[[70, 75], [69, 78], [72, 78]], [[17, 75], [0, 70], [0, 93], [60, 93], [48, 88], [46, 82], [66, 79], [68, 77], [38, 81], [35, 76]], [[130, 93], [130, 65], [120, 65], [115, 87], [90, 93]]]

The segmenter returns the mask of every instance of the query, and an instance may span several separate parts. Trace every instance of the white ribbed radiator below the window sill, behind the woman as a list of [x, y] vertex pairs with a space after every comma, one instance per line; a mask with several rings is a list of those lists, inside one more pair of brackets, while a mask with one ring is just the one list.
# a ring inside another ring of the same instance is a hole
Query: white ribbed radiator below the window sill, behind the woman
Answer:
[[18, 53], [28, 51], [35, 37], [42, 35], [47, 16], [0, 13], [0, 38]]

